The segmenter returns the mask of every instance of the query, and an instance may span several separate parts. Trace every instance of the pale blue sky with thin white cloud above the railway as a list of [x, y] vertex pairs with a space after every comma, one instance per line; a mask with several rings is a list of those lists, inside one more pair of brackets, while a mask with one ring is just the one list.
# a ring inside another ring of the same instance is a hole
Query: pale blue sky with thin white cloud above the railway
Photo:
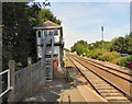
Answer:
[[[40, 1], [41, 0], [36, 0]], [[79, 1], [79, 0], [78, 0]], [[130, 33], [130, 2], [114, 0], [106, 2], [51, 2], [50, 9], [62, 21], [65, 47], [70, 47], [77, 41], [84, 39], [89, 44], [102, 39], [101, 26], [105, 27], [103, 39], [125, 36]]]

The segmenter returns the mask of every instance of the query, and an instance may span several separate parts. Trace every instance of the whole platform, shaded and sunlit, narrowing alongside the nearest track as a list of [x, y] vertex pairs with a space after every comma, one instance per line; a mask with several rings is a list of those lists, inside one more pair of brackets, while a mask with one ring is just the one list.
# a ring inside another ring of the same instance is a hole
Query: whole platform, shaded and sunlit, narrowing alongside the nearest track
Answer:
[[32, 97], [28, 97], [24, 102], [107, 102], [98, 95], [90, 86], [87, 80], [77, 71], [68, 59], [66, 68], [68, 68], [74, 82], [67, 82], [66, 78], [55, 78], [52, 82], [45, 83]]

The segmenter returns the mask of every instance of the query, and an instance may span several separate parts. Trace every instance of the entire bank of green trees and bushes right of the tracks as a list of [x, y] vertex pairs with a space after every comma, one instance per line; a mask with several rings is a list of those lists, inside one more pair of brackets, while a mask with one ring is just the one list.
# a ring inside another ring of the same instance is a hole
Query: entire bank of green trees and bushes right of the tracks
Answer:
[[[125, 37], [117, 37], [111, 42], [103, 42], [103, 44], [102, 49], [102, 42], [87, 44], [87, 42], [79, 41], [72, 46], [70, 50], [76, 51], [78, 55], [84, 55], [85, 53], [87, 57], [94, 59], [129, 67], [129, 62], [132, 61], [132, 33]], [[121, 57], [121, 54], [128, 54], [128, 56]]]

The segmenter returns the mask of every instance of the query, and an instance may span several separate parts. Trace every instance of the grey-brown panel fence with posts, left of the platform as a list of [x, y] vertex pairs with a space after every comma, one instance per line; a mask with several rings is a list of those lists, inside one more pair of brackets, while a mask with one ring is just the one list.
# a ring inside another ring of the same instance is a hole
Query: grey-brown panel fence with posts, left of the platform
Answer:
[[14, 61], [11, 60], [7, 71], [10, 73], [8, 79], [10, 86], [10, 90], [8, 89], [8, 102], [20, 102], [24, 97], [31, 97], [32, 93], [45, 83], [45, 70], [42, 69], [41, 61], [32, 65], [32, 60], [29, 58], [28, 67], [18, 71], [14, 71]]

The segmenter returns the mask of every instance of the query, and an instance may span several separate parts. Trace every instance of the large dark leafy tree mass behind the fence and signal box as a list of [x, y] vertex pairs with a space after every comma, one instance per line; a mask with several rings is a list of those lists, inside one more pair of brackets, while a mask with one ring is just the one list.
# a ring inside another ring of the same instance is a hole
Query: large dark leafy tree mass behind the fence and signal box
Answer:
[[10, 59], [26, 67], [28, 57], [36, 61], [35, 32], [33, 26], [46, 20], [61, 24], [61, 21], [47, 9], [25, 2], [4, 2], [2, 4], [2, 59], [3, 68], [8, 68]]

